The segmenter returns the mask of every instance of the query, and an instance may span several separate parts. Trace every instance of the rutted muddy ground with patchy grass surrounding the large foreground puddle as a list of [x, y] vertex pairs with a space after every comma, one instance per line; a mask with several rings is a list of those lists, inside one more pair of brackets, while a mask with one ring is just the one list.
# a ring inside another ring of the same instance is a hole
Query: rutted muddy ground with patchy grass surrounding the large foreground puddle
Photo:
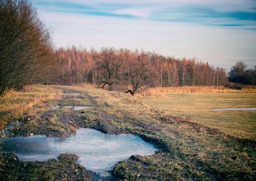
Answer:
[[[35, 106], [36, 113], [10, 121], [5, 131], [1, 131], [1, 136], [44, 134], [67, 137], [80, 127], [89, 127], [104, 133], [137, 134], [160, 149], [153, 156], [132, 156], [129, 160], [119, 162], [113, 170], [113, 177], [105, 178], [109, 180], [256, 178], [256, 144], [253, 140], [238, 139], [218, 129], [172, 117], [123, 93], [71, 86], [52, 88], [60, 91], [58, 97], [46, 101], [40, 107]], [[51, 111], [55, 105], [90, 107], [82, 111], [63, 107]], [[79, 166], [77, 158], [71, 155], [61, 155], [59, 160], [34, 163], [18, 162], [14, 154], [1, 154], [0, 158], [1, 180], [99, 179]], [[40, 172], [42, 165], [44, 172]], [[15, 172], [7, 172], [9, 168]]]

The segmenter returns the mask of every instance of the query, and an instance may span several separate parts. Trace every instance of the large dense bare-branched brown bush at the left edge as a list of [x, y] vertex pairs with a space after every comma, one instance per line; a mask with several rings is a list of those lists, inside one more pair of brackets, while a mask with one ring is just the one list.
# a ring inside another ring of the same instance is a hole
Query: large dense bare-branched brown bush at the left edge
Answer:
[[25, 84], [49, 82], [52, 40], [26, 0], [0, 0], [0, 95]]

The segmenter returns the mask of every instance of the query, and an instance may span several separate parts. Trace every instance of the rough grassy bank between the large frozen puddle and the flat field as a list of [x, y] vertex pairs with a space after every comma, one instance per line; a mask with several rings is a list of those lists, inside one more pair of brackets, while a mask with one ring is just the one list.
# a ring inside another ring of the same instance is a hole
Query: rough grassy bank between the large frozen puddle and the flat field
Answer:
[[[173, 117], [121, 93], [102, 93], [102, 97], [89, 93], [88, 99], [101, 110], [100, 129], [134, 133], [160, 149], [154, 156], [135, 156], [117, 164], [113, 174], [119, 178], [253, 180], [255, 176], [253, 140], [238, 139], [189, 119]], [[253, 171], [247, 172], [247, 168]]]

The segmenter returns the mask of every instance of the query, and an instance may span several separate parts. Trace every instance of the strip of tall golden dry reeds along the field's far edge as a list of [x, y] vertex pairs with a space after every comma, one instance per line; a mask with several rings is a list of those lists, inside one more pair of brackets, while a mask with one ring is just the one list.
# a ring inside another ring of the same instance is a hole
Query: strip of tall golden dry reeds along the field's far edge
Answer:
[[168, 93], [251, 93], [256, 86], [244, 86], [242, 91], [233, 90], [225, 86], [181, 86], [147, 88], [139, 94], [143, 97], [168, 97]]

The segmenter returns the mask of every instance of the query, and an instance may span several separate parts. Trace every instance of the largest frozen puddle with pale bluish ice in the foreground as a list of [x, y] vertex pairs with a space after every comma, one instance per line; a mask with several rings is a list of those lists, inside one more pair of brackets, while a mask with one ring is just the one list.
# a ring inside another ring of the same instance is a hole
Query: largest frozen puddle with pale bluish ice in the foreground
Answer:
[[108, 170], [132, 155], [149, 156], [157, 149], [132, 134], [105, 134], [95, 129], [77, 129], [67, 138], [34, 135], [4, 139], [3, 152], [15, 152], [20, 161], [46, 161], [60, 154], [76, 154], [87, 170], [107, 176]]

